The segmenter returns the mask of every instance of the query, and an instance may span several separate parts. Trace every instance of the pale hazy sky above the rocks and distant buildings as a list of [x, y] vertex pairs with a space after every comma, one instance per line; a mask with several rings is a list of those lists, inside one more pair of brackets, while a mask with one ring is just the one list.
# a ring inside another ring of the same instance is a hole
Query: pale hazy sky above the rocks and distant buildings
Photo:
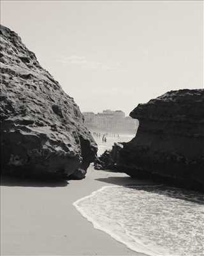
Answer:
[[202, 1], [1, 1], [1, 24], [81, 111], [203, 88]]

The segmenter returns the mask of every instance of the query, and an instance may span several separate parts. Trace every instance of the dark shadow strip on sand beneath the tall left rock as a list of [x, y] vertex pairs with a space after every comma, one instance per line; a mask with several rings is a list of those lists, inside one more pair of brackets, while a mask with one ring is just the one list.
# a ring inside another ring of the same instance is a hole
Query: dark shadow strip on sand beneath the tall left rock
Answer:
[[1, 176], [1, 186], [10, 187], [65, 187], [69, 184], [64, 179], [22, 179], [20, 177]]

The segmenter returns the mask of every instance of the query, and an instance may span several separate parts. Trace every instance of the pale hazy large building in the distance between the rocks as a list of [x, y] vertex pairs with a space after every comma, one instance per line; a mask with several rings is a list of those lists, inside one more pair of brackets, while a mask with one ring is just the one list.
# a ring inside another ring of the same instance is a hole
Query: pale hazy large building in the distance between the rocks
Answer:
[[89, 129], [109, 132], [134, 132], [138, 128], [138, 120], [125, 116], [121, 110], [103, 110], [103, 113], [94, 114], [84, 112], [85, 125]]

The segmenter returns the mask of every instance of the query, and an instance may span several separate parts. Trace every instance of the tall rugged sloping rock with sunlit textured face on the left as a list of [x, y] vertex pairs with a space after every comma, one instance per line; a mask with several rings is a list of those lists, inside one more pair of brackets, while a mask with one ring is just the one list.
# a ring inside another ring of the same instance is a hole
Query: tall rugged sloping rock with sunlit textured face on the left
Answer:
[[97, 145], [73, 98], [4, 26], [0, 57], [3, 171], [82, 179]]

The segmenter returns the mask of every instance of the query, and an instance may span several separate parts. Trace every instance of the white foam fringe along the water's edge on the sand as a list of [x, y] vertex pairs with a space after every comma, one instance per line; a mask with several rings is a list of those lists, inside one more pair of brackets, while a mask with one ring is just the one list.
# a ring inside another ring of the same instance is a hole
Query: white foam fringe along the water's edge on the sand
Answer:
[[[143, 253], [145, 255], [150, 255], [150, 256], [164, 256], [164, 255], [170, 255], [166, 250], [163, 250], [162, 248], [154, 248], [152, 245], [152, 248], [149, 248], [149, 246], [145, 246], [145, 244], [142, 243], [139, 239], [136, 239], [135, 237], [131, 236], [128, 231], [124, 228], [121, 227], [119, 223], [115, 221], [114, 225], [106, 225], [102, 226], [98, 221], [94, 220], [89, 214], [87, 214], [82, 207], [79, 206], [80, 202], [89, 199], [93, 196], [95, 196], [97, 193], [103, 191], [106, 188], [117, 188], [120, 186], [114, 185], [114, 186], [103, 186], [103, 188], [98, 189], [94, 192], [91, 193], [91, 195], [84, 196], [83, 198], [80, 198], [76, 202], [73, 203], [73, 205], [76, 207], [76, 209], [86, 218], [88, 221], [92, 223], [94, 228], [98, 230], [102, 230], [103, 232], [106, 232], [109, 234], [113, 239], [119, 241], [120, 243], [125, 244], [129, 249], [138, 252], [138, 253]], [[154, 187], [147, 185], [143, 187]], [[112, 221], [112, 220], [111, 220]], [[112, 223], [110, 223], [112, 224]], [[118, 225], [118, 227], [117, 227]], [[167, 253], [167, 254], [166, 254]]]

